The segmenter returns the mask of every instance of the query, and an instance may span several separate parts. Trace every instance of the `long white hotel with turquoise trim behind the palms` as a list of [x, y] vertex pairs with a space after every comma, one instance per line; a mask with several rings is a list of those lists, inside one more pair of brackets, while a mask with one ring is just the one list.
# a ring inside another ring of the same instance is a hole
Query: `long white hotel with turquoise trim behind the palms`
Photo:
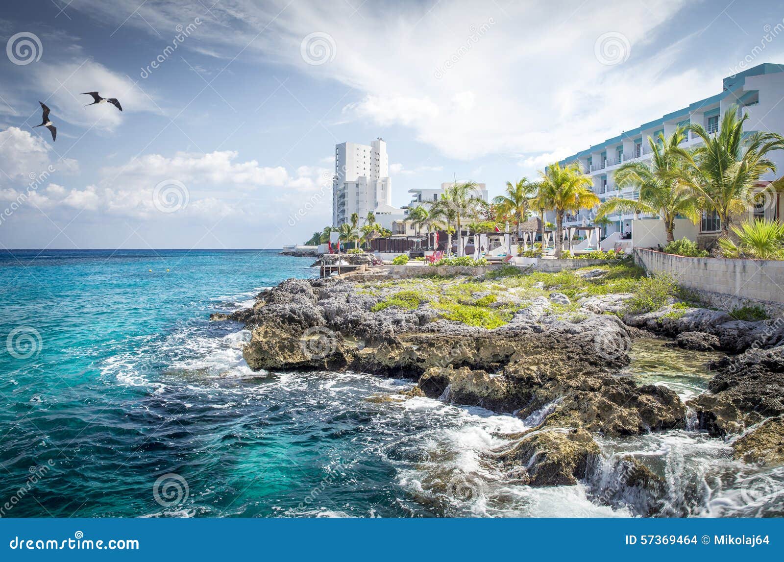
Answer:
[[[749, 114], [746, 121], [746, 132], [767, 131], [784, 133], [784, 103], [779, 103], [784, 96], [784, 65], [765, 63], [734, 76], [724, 78], [722, 89], [714, 96], [699, 100], [682, 107], [677, 111], [663, 115], [661, 118], [649, 121], [631, 131], [623, 131], [612, 139], [604, 140], [586, 150], [564, 158], [560, 164], [566, 165], [578, 161], [583, 171], [590, 174], [593, 179], [593, 191], [605, 201], [608, 198], [620, 197], [637, 199], [638, 193], [633, 187], [620, 188], [615, 182], [615, 171], [624, 162], [649, 161], [651, 147], [648, 137], [657, 138], [659, 133], [670, 136], [679, 125], [697, 123], [708, 132], [717, 134], [721, 123], [721, 115], [731, 105], [739, 106], [741, 113]], [[692, 132], [682, 143], [682, 147], [695, 147], [702, 143], [699, 137]], [[778, 171], [775, 176], [768, 174], [761, 178], [760, 190], [771, 180], [784, 172], [784, 154], [774, 151], [769, 158], [776, 164]], [[767, 202], [760, 198], [757, 208], [750, 209], [749, 218], [752, 216], [768, 219], [779, 219], [782, 216], [779, 195], [766, 194]], [[580, 211], [575, 215], [564, 218], [564, 227], [578, 227], [593, 224], [597, 208]], [[603, 237], [613, 237], [617, 240], [632, 237], [632, 213], [608, 216], [611, 224], [604, 226]], [[641, 217], [644, 218], [644, 217]], [[554, 213], [546, 216], [549, 222], [555, 222]], [[639, 223], [639, 221], [637, 221]], [[699, 230], [696, 234], [698, 241], [703, 245], [717, 237], [720, 222], [715, 212], [707, 212], [702, 216]], [[637, 243], [635, 242], [635, 245]]]

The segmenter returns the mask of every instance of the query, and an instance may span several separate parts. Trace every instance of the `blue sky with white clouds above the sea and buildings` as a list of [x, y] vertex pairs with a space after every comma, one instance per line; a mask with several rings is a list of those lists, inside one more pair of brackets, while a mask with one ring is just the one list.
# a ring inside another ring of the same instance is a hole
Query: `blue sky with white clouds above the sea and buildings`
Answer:
[[[782, 18], [725, 0], [4, 2], [0, 247], [302, 243], [331, 222], [336, 143], [377, 137], [394, 205], [453, 177], [492, 197], [784, 63]], [[90, 91], [123, 111], [83, 107]]]

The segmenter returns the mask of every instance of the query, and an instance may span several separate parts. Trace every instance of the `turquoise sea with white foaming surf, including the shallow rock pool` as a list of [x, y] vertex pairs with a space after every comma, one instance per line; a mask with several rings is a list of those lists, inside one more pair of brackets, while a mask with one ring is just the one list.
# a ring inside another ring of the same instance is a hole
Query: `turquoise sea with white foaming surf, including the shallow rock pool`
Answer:
[[[249, 332], [209, 314], [316, 276], [311, 262], [274, 251], [0, 255], [0, 517], [637, 514], [597, 501], [598, 477], [529, 488], [499, 466], [493, 451], [535, 420], [406, 400], [408, 380], [252, 372]], [[637, 353], [661, 359], [657, 349]], [[682, 372], [676, 355], [667, 372], [654, 363], [629, 375], [684, 395], [707, 380], [696, 357]], [[679, 430], [600, 444], [608, 458], [652, 459], [671, 513], [779, 514], [784, 473], [739, 465], [719, 440]]]

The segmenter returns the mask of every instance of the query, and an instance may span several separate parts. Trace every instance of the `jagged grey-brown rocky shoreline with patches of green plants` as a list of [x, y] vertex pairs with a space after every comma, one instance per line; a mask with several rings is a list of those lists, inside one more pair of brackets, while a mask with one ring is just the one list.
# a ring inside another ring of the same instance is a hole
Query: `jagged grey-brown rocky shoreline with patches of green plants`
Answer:
[[[569, 275], [601, 284], [606, 274]], [[687, 426], [731, 442], [744, 462], [784, 462], [784, 326], [738, 321], [675, 299], [631, 314], [631, 293], [570, 299], [559, 290], [568, 277], [528, 281], [289, 279], [260, 293], [252, 308], [212, 318], [240, 321], [252, 332], [243, 355], [253, 370], [414, 379], [409, 396], [525, 419], [531, 429], [509, 436], [510, 446], [495, 452], [521, 484], [588, 477], [599, 455], [595, 436]], [[668, 387], [640, 384], [623, 372], [641, 335], [729, 355], [711, 364], [716, 374], [708, 390], [684, 403]], [[660, 477], [637, 459], [615, 468], [652, 499], [660, 492]]]

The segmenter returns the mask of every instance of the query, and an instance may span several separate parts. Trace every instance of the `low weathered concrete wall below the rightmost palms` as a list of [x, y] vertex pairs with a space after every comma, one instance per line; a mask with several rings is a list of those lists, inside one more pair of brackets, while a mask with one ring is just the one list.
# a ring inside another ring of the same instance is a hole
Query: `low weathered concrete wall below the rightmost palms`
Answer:
[[670, 274], [682, 287], [724, 310], [760, 304], [768, 314], [784, 312], [784, 261], [687, 258], [634, 248], [649, 273]]

